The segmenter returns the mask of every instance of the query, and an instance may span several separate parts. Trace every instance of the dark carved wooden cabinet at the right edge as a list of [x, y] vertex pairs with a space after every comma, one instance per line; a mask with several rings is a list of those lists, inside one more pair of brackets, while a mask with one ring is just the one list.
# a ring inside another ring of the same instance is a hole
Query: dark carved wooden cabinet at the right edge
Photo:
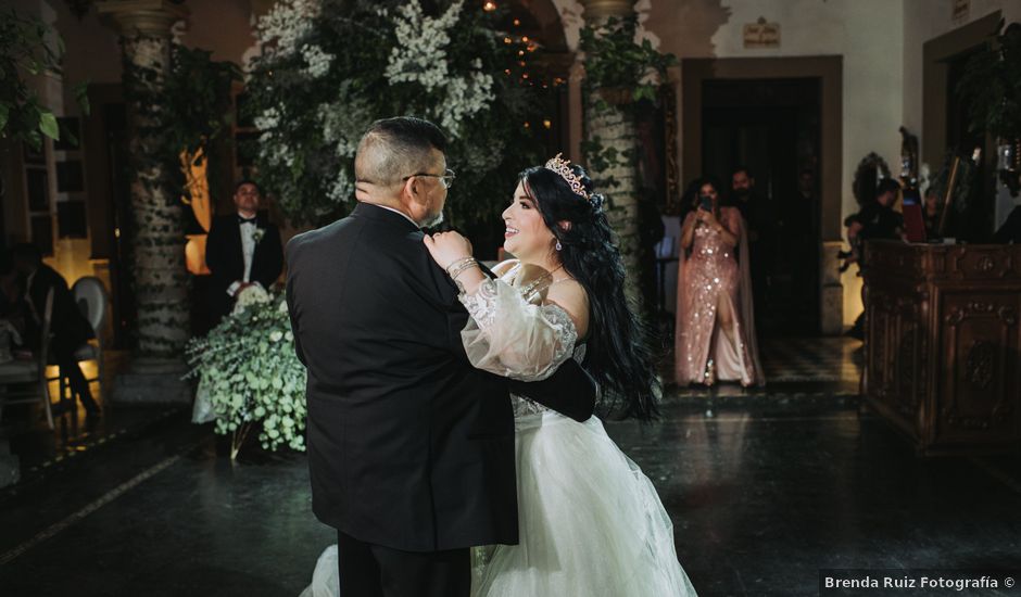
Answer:
[[1021, 246], [866, 247], [867, 403], [924, 455], [1021, 448]]

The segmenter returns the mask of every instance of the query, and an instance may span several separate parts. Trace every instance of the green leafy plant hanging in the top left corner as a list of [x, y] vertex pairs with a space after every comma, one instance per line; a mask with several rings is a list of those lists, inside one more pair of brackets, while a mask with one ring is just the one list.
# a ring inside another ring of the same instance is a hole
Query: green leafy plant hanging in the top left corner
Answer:
[[[36, 150], [42, 147], [43, 136], [60, 138], [56, 116], [26, 77], [60, 77], [63, 53], [63, 40], [43, 22], [22, 16], [13, 8], [0, 8], [0, 137], [24, 141]], [[86, 86], [74, 87], [83, 114], [89, 113]]]

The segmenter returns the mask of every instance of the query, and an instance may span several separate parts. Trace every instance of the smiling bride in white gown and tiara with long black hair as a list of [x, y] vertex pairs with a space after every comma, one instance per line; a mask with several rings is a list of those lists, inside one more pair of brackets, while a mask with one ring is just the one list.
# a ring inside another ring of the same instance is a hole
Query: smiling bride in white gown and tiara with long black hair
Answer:
[[[475, 367], [537, 381], [575, 358], [598, 382], [605, 411], [648, 420], [658, 382], [603, 201], [580, 166], [557, 156], [521, 174], [503, 214], [504, 247], [518, 261], [496, 266], [497, 279], [457, 232], [425, 242], [462, 289]], [[476, 549], [472, 597], [694, 596], [655, 487], [600, 419], [512, 399], [520, 543]], [[330, 547], [302, 597], [336, 597], [336, 571]]]

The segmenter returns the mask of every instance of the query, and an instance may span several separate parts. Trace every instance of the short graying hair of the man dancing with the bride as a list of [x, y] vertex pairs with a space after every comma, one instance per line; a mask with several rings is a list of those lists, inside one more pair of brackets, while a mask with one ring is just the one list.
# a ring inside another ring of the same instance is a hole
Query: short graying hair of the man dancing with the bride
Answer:
[[399, 116], [376, 120], [358, 142], [356, 181], [390, 186], [432, 166], [433, 149], [443, 151], [446, 137], [434, 124]]

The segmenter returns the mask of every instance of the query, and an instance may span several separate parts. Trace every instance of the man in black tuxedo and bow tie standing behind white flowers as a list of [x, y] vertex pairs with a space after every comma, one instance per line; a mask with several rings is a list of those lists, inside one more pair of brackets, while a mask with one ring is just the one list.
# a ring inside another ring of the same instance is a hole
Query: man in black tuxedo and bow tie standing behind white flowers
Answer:
[[205, 265], [213, 325], [230, 313], [238, 293], [252, 284], [269, 290], [283, 270], [280, 231], [259, 213], [261, 198], [257, 185], [242, 180], [234, 191], [237, 214], [218, 216], [210, 227]]

